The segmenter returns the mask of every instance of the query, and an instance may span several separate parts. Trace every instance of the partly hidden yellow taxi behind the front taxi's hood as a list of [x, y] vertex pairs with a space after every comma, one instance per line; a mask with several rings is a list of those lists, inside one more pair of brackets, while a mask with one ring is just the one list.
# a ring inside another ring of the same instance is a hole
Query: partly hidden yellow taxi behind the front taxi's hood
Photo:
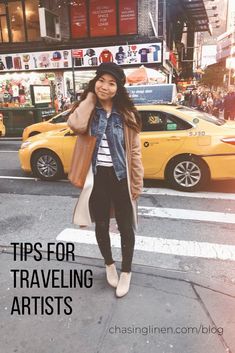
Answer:
[[66, 127], [66, 121], [68, 119], [69, 113], [70, 109], [67, 109], [47, 121], [42, 121], [40, 123], [27, 126], [23, 131], [22, 140], [25, 141], [29, 137], [38, 135], [42, 132], [57, 130]]

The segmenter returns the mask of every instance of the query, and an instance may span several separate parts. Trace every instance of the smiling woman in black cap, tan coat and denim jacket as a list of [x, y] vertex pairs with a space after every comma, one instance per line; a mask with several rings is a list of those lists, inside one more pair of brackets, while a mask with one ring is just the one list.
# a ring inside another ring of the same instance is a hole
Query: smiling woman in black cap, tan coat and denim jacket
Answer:
[[[74, 223], [95, 222], [95, 235], [116, 296], [129, 291], [137, 222], [137, 198], [143, 186], [139, 132], [141, 122], [124, 87], [125, 74], [115, 63], [102, 63], [71, 113], [68, 125], [77, 134], [89, 126], [96, 145], [85, 185], [74, 211]], [[74, 126], [76, 121], [76, 127]], [[120, 278], [112, 257], [109, 223], [115, 213], [121, 236]]]

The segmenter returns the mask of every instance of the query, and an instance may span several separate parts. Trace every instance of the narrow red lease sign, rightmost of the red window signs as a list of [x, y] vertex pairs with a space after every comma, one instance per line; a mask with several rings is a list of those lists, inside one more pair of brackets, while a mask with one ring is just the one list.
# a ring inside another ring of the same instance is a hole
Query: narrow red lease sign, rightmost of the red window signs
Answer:
[[119, 34], [137, 33], [136, 0], [119, 0]]

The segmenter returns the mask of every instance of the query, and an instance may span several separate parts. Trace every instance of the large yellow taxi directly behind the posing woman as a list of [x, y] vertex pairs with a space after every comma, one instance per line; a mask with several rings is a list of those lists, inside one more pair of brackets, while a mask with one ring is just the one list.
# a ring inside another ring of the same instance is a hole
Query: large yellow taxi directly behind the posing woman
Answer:
[[[165, 179], [183, 191], [199, 190], [211, 179], [235, 179], [235, 122], [177, 105], [137, 109], [145, 179]], [[43, 180], [62, 178], [76, 138], [69, 128], [29, 138], [19, 150], [22, 170]]]

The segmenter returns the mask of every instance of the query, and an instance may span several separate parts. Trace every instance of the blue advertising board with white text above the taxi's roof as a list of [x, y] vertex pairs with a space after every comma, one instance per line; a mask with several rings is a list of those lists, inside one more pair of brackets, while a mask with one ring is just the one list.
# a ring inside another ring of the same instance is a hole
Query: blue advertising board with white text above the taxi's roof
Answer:
[[175, 84], [127, 86], [126, 89], [135, 104], [172, 103], [177, 94]]

